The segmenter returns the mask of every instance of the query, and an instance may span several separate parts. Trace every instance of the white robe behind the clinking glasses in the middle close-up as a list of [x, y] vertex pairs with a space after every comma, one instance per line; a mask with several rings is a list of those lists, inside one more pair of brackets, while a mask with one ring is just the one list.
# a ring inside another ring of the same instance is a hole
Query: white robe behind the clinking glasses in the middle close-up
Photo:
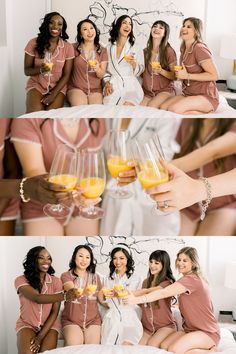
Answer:
[[[153, 134], [158, 133], [167, 161], [178, 151], [175, 136], [180, 124], [180, 119], [131, 119], [128, 127], [127, 124], [125, 127], [123, 123], [124, 119], [113, 119], [110, 128], [128, 128], [131, 139], [141, 137], [143, 140], [148, 140]], [[104, 141], [104, 146], [106, 145], [106, 141]], [[104, 216], [101, 221], [100, 235], [178, 235], [180, 227], [178, 212], [168, 215], [155, 213], [155, 204], [143, 191], [138, 180], [124, 187], [133, 193], [131, 198], [111, 198], [109, 196], [109, 189], [115, 188], [116, 184], [117, 181], [111, 178], [103, 194], [102, 207], [104, 209]]]

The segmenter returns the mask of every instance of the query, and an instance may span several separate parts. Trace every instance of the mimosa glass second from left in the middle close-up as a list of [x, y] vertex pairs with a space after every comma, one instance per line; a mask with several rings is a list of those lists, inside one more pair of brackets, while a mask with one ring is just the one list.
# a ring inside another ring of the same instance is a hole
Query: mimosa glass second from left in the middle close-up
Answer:
[[[77, 176], [79, 186], [85, 191], [82, 195], [87, 199], [95, 199], [102, 195], [106, 185], [106, 171], [102, 150], [82, 150], [78, 155]], [[80, 215], [87, 219], [100, 219], [104, 211], [94, 205], [82, 208]]]

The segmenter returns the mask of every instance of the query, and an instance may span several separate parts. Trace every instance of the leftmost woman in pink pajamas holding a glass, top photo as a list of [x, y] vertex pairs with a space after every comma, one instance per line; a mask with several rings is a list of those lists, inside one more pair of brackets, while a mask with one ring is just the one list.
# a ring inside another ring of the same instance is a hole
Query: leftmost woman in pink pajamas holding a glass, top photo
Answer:
[[67, 42], [67, 23], [58, 12], [45, 15], [37, 38], [25, 48], [26, 111], [60, 108], [69, 80], [73, 47]]

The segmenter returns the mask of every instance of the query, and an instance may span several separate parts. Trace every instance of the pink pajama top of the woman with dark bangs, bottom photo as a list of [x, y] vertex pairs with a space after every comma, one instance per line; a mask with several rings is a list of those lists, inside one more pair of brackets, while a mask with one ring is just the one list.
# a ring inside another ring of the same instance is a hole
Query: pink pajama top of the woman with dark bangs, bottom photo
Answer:
[[[165, 280], [159, 284], [162, 288], [169, 286], [171, 282]], [[144, 280], [142, 288], [147, 287], [147, 279]], [[146, 332], [153, 334], [163, 327], [176, 329], [176, 323], [171, 312], [171, 298], [158, 300], [155, 303], [142, 304], [142, 325]]]

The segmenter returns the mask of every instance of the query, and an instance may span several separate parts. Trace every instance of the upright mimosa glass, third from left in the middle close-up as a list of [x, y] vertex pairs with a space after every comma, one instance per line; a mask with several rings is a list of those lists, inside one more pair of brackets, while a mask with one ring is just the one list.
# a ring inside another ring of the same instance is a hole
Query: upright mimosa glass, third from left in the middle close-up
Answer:
[[[111, 130], [108, 133], [107, 168], [113, 178], [117, 178], [120, 172], [132, 170], [132, 167], [128, 166], [131, 161], [129, 139], [128, 130]], [[115, 190], [109, 191], [109, 195], [112, 198], [127, 199], [133, 194], [124, 187], [117, 186]]]

